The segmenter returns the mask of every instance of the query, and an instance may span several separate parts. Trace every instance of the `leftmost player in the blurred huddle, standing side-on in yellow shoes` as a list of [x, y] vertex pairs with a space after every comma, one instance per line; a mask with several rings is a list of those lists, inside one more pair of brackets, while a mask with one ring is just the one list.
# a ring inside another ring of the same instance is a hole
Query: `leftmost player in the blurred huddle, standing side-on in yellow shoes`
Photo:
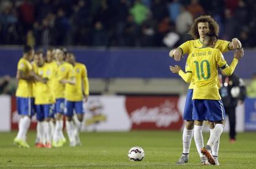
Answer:
[[26, 134], [30, 126], [30, 118], [33, 116], [31, 97], [33, 96], [34, 74], [30, 61], [33, 59], [34, 49], [31, 46], [23, 47], [23, 57], [17, 66], [18, 88], [16, 91], [17, 110], [21, 116], [19, 121], [19, 132], [14, 139], [14, 143], [20, 147], [29, 148], [26, 142]]

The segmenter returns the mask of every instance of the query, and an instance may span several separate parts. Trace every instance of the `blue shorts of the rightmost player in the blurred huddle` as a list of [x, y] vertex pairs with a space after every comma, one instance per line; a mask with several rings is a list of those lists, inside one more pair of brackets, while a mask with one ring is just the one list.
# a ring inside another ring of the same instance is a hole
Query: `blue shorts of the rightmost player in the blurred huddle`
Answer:
[[83, 114], [83, 101], [78, 101], [78, 102], [66, 101], [65, 104], [66, 104], [65, 115], [67, 117], [72, 117], [74, 115], [74, 109], [75, 109], [75, 113]]

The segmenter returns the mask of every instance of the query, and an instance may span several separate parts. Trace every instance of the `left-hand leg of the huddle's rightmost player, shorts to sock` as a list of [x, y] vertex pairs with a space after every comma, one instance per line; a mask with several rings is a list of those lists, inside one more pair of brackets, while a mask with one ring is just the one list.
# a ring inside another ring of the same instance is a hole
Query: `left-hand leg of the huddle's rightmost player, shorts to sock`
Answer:
[[66, 116], [66, 130], [67, 130], [67, 136], [69, 137], [69, 146], [74, 147], [75, 146], [75, 133], [74, 133], [74, 122], [72, 121], [72, 117], [74, 115], [73, 111], [75, 108], [74, 102], [66, 101], [66, 110], [65, 110], [65, 116]]

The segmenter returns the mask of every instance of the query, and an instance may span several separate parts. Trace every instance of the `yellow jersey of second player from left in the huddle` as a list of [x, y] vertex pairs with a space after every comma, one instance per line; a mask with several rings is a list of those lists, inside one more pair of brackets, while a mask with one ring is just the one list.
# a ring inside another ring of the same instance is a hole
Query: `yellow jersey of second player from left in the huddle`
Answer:
[[53, 70], [48, 64], [36, 68], [36, 75], [41, 78], [48, 78], [47, 83], [41, 81], [35, 82], [35, 104], [53, 104], [55, 102], [53, 89], [51, 88], [51, 79], [53, 79]]

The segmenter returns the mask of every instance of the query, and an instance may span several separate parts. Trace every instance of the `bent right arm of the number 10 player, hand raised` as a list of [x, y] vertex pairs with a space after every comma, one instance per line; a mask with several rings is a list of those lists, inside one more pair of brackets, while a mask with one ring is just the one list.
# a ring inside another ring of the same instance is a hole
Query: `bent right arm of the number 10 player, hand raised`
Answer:
[[[220, 52], [221, 54], [221, 52]], [[234, 69], [236, 68], [236, 65], [238, 64], [238, 61], [244, 56], [244, 49], [239, 49], [236, 52], [234, 52], [234, 59], [232, 60], [231, 64], [228, 65], [226, 63], [226, 60], [224, 60], [223, 55], [220, 55], [220, 59], [218, 61], [219, 67], [223, 70], [225, 75], [230, 76], [233, 74]]]

